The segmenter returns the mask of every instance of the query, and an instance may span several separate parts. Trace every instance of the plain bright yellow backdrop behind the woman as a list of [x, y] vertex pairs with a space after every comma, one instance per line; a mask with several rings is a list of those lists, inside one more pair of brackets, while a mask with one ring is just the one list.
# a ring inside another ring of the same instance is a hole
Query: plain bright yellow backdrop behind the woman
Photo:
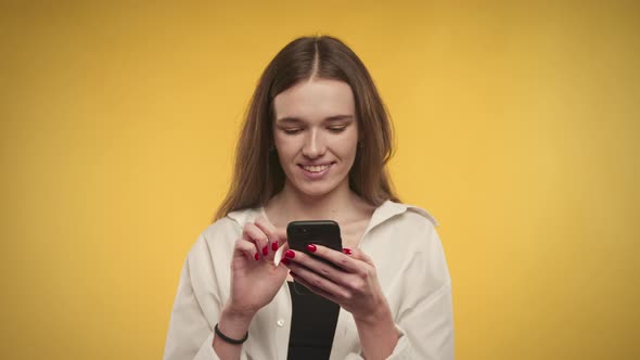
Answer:
[[257, 78], [319, 33], [441, 222], [457, 359], [638, 359], [640, 7], [479, 2], [3, 2], [0, 358], [161, 358]]

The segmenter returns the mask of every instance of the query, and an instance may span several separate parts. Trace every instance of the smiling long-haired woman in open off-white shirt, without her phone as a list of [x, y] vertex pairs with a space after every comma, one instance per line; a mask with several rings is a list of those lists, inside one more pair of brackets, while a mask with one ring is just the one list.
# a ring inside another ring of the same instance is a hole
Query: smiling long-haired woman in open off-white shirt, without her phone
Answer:
[[[231, 190], [191, 249], [165, 359], [452, 359], [451, 283], [435, 220], [398, 203], [391, 124], [364, 65], [305, 37], [267, 66]], [[294, 220], [340, 223], [343, 253], [290, 249]], [[295, 280], [317, 295], [298, 295]]]

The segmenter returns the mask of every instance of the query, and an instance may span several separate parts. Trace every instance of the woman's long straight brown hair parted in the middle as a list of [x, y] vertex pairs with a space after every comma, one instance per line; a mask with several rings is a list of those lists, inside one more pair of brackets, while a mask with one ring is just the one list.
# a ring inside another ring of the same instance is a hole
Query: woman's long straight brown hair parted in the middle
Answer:
[[386, 169], [393, 154], [393, 129], [367, 67], [336, 38], [302, 37], [273, 57], [258, 81], [238, 142], [231, 187], [214, 220], [233, 210], [263, 206], [282, 190], [285, 176], [273, 149], [273, 99], [311, 77], [344, 81], [354, 92], [361, 136], [349, 188], [375, 206], [398, 201]]

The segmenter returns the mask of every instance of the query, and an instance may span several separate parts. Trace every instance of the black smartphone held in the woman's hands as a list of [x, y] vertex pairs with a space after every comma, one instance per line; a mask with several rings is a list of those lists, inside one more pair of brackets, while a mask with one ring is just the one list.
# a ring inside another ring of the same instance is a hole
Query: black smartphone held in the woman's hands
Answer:
[[[329, 261], [307, 250], [308, 244], [323, 245], [334, 250], [342, 252], [340, 226], [333, 220], [292, 221], [286, 226], [286, 241], [290, 248], [297, 252], [304, 252], [324, 262]], [[298, 282], [294, 282], [293, 287], [297, 294], [312, 294], [310, 290]]]

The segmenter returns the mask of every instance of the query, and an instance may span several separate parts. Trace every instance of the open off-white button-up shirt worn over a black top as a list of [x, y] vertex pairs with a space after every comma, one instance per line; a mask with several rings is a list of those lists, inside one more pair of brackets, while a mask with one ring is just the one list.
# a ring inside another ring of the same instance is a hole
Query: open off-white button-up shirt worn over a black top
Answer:
[[[164, 359], [218, 359], [213, 330], [230, 293], [233, 245], [244, 223], [261, 213], [230, 213], [197, 239], [180, 275]], [[387, 201], [375, 209], [360, 241], [400, 333], [388, 359], [453, 359], [451, 280], [436, 224], [421, 208]], [[284, 283], [254, 317], [241, 359], [286, 360], [291, 313]], [[362, 359], [356, 323], [342, 308], [331, 359]]]

